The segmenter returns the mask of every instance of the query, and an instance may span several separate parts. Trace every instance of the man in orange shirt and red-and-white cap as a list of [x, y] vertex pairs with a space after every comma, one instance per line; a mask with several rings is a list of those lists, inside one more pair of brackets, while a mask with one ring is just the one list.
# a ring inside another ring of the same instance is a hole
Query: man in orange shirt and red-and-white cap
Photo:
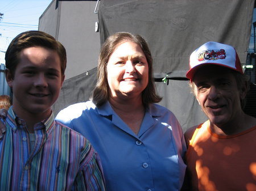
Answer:
[[188, 129], [191, 190], [256, 190], [256, 118], [242, 110], [249, 88], [236, 50], [208, 42], [190, 56], [192, 90], [209, 118]]

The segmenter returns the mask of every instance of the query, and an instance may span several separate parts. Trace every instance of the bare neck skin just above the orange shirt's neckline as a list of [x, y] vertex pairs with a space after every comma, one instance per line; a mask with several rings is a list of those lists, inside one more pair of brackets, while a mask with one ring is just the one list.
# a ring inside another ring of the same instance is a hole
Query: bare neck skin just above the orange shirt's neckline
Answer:
[[234, 135], [246, 131], [256, 125], [256, 118], [241, 113], [236, 120], [226, 124], [213, 124], [210, 122], [210, 129], [218, 135]]

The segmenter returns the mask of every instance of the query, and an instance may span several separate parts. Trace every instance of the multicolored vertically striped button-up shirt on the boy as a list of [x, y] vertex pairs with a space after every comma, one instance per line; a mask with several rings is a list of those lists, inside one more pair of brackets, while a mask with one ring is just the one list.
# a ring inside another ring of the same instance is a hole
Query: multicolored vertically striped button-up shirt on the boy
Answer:
[[0, 140], [1, 190], [105, 190], [98, 154], [53, 114], [35, 125], [34, 144], [12, 107], [5, 124]]

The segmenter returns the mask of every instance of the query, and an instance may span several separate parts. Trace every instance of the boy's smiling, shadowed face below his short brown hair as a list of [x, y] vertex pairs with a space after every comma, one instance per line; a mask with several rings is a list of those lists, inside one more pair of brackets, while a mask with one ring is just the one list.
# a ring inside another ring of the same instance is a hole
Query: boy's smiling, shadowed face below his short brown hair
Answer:
[[14, 78], [7, 70], [6, 79], [13, 88], [13, 109], [19, 117], [42, 114], [47, 118], [64, 80], [59, 55], [39, 46], [26, 48], [20, 52]]

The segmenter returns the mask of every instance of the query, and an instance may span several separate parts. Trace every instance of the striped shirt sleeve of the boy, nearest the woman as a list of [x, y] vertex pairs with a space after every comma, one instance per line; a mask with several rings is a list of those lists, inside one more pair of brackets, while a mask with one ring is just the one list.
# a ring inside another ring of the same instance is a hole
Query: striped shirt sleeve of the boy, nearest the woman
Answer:
[[106, 190], [100, 157], [87, 140], [81, 153], [79, 172], [75, 180], [75, 190]]

